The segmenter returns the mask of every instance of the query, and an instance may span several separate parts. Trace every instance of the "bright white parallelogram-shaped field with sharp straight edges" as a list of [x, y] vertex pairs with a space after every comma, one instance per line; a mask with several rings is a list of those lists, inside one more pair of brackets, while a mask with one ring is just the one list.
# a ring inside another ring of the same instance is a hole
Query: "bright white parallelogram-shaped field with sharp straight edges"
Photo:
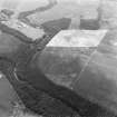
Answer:
[[62, 30], [47, 47], [98, 47], [107, 30]]

